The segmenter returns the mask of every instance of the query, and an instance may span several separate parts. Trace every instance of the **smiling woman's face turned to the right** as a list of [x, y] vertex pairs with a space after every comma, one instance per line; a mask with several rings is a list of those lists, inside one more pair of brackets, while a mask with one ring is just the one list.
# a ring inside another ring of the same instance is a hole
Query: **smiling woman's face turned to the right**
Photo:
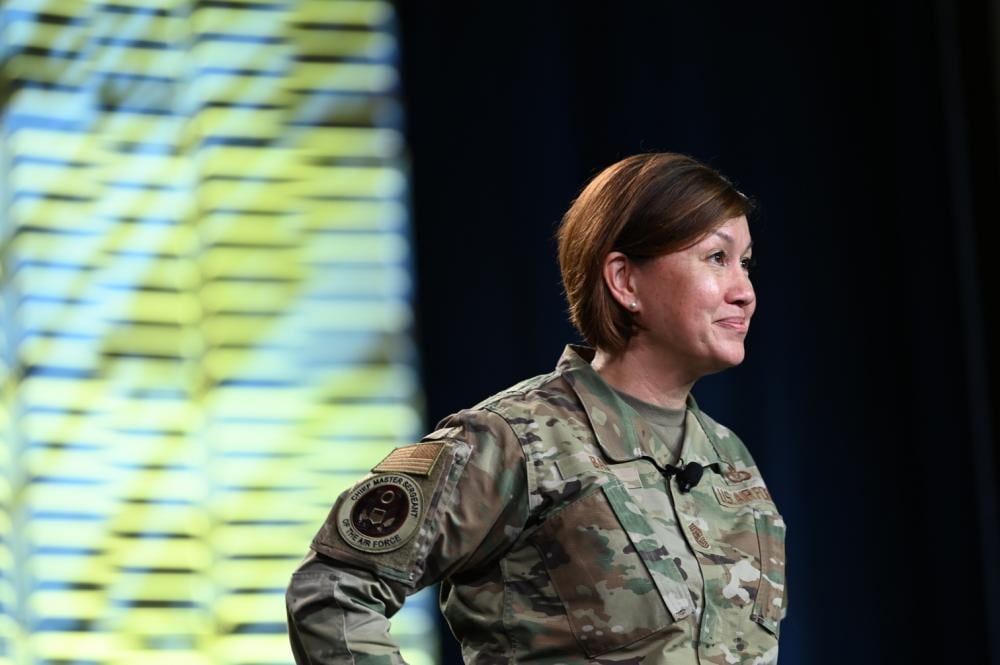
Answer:
[[743, 361], [756, 309], [750, 248], [741, 216], [687, 249], [633, 266], [637, 316], [645, 328], [639, 337], [692, 380]]

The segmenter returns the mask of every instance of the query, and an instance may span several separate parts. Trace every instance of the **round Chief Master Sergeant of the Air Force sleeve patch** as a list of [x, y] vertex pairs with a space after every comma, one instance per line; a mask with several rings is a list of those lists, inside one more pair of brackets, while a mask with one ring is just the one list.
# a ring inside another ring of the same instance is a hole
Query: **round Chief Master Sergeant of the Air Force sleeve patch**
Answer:
[[337, 529], [362, 552], [391, 552], [413, 537], [423, 514], [424, 497], [415, 480], [380, 473], [351, 489], [337, 511]]

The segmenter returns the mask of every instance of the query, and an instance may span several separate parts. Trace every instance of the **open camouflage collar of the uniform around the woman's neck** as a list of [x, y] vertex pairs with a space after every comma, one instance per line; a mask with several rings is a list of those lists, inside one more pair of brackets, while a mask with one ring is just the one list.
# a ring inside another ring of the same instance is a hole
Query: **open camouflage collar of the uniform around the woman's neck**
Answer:
[[[646, 457], [664, 468], [669, 461], [666, 446], [656, 438], [646, 421], [591, 367], [593, 358], [594, 349], [570, 344], [559, 358], [556, 371], [566, 379], [583, 404], [601, 451], [615, 462]], [[685, 461], [720, 461], [711, 440], [712, 434], [705, 427], [701, 411], [691, 395], [688, 395], [687, 408], [689, 413], [681, 451]], [[700, 431], [693, 431], [692, 425]]]

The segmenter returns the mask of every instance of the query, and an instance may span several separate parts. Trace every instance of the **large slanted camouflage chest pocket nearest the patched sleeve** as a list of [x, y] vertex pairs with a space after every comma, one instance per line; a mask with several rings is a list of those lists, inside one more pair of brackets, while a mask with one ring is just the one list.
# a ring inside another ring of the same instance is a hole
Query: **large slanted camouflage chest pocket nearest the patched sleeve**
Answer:
[[530, 542], [590, 657], [665, 630], [693, 610], [680, 570], [618, 482], [550, 515]]

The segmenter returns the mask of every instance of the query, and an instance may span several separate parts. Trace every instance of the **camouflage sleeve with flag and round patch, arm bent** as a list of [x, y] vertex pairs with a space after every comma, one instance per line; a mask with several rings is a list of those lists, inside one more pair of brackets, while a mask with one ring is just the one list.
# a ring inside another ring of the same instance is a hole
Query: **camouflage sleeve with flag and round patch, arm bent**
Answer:
[[388, 619], [405, 597], [486, 570], [520, 535], [527, 481], [510, 426], [489, 411], [444, 425], [337, 499], [286, 594], [299, 665], [403, 662]]

